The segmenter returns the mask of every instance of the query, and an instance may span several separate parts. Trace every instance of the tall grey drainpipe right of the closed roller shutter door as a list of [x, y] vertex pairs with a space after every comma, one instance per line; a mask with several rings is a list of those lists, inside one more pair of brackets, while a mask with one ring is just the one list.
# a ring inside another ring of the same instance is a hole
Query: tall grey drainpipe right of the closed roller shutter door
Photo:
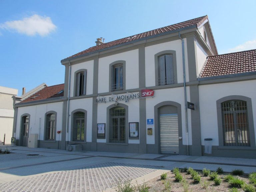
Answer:
[[187, 137], [187, 155], [189, 155], [189, 143], [188, 143], [188, 114], [187, 114], [187, 90], [186, 90], [186, 71], [185, 71], [185, 55], [184, 55], [184, 40], [180, 36], [182, 42], [182, 65], [183, 65], [183, 87], [184, 87], [184, 100], [185, 100], [185, 121], [186, 121], [186, 137]]

